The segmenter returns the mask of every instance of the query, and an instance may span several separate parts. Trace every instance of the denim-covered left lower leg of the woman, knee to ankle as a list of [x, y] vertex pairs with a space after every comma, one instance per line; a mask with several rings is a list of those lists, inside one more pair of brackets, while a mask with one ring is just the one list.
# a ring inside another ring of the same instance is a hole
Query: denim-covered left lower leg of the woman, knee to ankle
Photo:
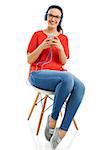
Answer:
[[52, 109], [52, 118], [57, 120], [59, 112], [67, 97], [73, 90], [74, 80], [72, 74], [66, 72], [61, 78], [61, 82], [56, 86], [55, 97]]

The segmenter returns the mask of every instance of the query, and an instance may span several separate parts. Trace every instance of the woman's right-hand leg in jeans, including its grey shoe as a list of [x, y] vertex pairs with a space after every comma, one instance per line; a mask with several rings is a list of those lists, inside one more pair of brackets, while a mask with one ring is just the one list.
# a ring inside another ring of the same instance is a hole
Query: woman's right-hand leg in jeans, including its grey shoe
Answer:
[[71, 124], [71, 121], [84, 96], [84, 92], [85, 92], [84, 84], [75, 76], [73, 76], [73, 79], [74, 79], [73, 90], [71, 91], [69, 95], [61, 126], [60, 128], [55, 129], [53, 136], [50, 139], [50, 144], [53, 149], [55, 149], [58, 146], [58, 144], [61, 142], [61, 140], [65, 136]]

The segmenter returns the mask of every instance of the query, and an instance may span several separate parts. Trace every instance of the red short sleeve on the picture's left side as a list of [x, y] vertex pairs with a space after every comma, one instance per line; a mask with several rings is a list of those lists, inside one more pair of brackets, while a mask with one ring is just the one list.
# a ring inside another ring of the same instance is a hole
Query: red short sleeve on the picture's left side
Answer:
[[33, 52], [38, 46], [37, 33], [35, 32], [29, 42], [27, 53]]

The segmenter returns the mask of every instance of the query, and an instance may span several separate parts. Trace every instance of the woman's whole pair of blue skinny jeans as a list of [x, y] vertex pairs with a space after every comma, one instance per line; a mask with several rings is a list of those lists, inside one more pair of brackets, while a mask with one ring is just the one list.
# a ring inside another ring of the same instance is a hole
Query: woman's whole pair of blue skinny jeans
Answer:
[[[84, 84], [68, 71], [38, 70], [30, 74], [30, 83], [44, 90], [54, 91], [51, 117], [58, 119], [59, 112], [66, 101], [65, 113], [60, 128], [67, 131], [82, 101]], [[69, 96], [69, 97], [68, 97]]]

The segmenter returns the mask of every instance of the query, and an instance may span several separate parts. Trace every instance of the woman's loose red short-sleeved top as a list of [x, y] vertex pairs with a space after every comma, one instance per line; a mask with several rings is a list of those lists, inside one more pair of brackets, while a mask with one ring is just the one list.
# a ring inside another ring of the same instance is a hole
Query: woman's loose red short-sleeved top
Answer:
[[[43, 30], [37, 31], [33, 34], [30, 43], [28, 45], [27, 53], [33, 52], [48, 36], [44, 33]], [[60, 42], [64, 48], [65, 54], [67, 59], [69, 58], [69, 48], [68, 48], [68, 38], [64, 34], [59, 34], [58, 38], [60, 39]], [[41, 66], [45, 61], [50, 61], [50, 56], [48, 59], [46, 58], [48, 53], [50, 52], [50, 48], [46, 48], [42, 51], [38, 59], [30, 64], [30, 72], [41, 70]], [[39, 63], [41, 62], [41, 63]], [[56, 46], [52, 47], [52, 60], [49, 63], [45, 63], [43, 65], [43, 69], [48, 70], [64, 70], [62, 67], [63, 64], [59, 60], [59, 54], [58, 54], [58, 48]]]

